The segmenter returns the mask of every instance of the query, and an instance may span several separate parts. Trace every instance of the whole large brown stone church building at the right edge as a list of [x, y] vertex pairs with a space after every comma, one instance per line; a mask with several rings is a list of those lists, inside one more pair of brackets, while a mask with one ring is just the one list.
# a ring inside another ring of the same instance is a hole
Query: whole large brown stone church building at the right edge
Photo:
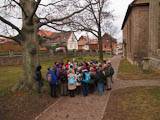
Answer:
[[123, 55], [132, 64], [160, 69], [160, 0], [134, 0], [122, 30]]

